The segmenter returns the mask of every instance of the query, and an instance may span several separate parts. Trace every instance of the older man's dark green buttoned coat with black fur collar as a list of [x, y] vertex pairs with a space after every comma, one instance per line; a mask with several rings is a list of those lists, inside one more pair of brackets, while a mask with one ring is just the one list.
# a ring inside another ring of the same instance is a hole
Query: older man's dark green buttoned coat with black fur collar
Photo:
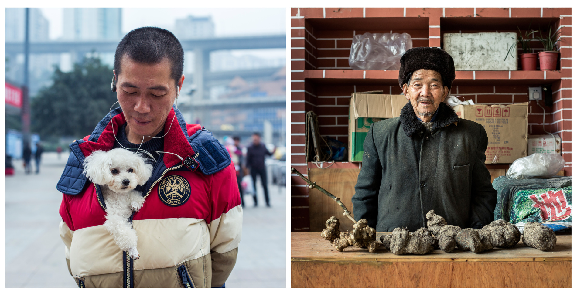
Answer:
[[426, 227], [434, 209], [448, 224], [481, 228], [493, 221], [497, 191], [485, 167], [487, 134], [441, 103], [432, 133], [407, 103], [398, 118], [374, 123], [355, 185], [355, 220], [377, 232]]

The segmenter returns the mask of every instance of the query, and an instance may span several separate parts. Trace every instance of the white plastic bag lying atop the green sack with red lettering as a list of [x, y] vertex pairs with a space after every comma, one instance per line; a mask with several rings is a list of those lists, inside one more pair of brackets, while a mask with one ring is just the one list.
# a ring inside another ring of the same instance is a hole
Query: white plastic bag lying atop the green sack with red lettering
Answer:
[[560, 154], [534, 153], [513, 161], [507, 171], [509, 179], [549, 178], [565, 166]]

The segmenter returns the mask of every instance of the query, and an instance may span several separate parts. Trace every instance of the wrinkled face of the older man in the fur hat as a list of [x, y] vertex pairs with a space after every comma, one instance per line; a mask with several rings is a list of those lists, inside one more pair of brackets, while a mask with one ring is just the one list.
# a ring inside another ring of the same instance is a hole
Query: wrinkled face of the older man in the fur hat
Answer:
[[429, 122], [449, 94], [449, 88], [443, 86], [441, 74], [434, 70], [416, 70], [409, 82], [403, 85], [403, 93], [411, 101], [415, 115]]

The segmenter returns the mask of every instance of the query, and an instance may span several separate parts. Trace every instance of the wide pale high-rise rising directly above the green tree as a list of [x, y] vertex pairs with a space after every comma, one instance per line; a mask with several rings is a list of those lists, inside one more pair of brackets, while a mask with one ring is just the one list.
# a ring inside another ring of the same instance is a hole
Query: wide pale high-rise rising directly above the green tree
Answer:
[[64, 8], [63, 39], [122, 39], [122, 8]]

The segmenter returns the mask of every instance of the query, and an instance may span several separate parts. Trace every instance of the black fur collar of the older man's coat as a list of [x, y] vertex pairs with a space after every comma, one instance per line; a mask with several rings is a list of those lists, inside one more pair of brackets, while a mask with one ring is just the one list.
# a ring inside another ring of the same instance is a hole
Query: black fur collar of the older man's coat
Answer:
[[[433, 123], [433, 129], [445, 127], [459, 120], [453, 108], [445, 103], [439, 104], [437, 112], [439, 112], [439, 114], [437, 114], [437, 118]], [[404, 134], [408, 137], [419, 133], [419, 131], [426, 131], [425, 126], [417, 119], [417, 115], [415, 115], [413, 105], [411, 105], [410, 101], [400, 110], [400, 124], [403, 127]]]

